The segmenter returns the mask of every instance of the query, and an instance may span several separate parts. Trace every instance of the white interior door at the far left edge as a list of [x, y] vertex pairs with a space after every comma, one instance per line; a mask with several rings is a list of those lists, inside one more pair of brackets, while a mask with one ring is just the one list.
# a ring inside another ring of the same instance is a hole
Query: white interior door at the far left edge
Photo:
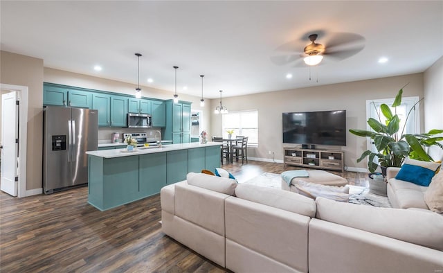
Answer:
[[18, 173], [19, 143], [19, 105], [16, 104], [17, 92], [1, 95], [1, 179], [0, 189], [17, 196], [15, 177]]

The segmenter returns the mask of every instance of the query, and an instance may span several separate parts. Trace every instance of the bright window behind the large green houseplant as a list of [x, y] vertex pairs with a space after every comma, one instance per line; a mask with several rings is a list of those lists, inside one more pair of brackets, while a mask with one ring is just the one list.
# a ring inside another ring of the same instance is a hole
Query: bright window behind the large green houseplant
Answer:
[[[397, 113], [395, 113], [395, 109], [390, 107], [392, 114], [397, 114], [400, 118], [400, 130], [399, 137], [401, 137], [401, 131], [404, 128], [403, 134], [417, 134], [420, 131], [420, 119], [419, 119], [419, 104], [415, 105], [419, 101], [417, 96], [415, 97], [406, 97], [401, 99], [401, 105], [397, 107]], [[375, 118], [377, 121], [381, 120], [381, 123], [386, 124], [386, 118], [380, 112], [380, 105], [385, 103], [390, 106], [394, 103], [394, 98], [386, 98], [381, 100], [366, 100], [366, 115], [368, 118]], [[413, 109], [415, 105], [415, 109]], [[405, 127], [406, 117], [410, 109], [413, 109], [408, 117], [408, 123]], [[377, 114], [378, 113], [378, 114]], [[372, 130], [368, 125], [368, 130]], [[372, 150], [372, 152], [377, 152], [377, 149], [374, 145], [371, 144], [371, 141], [368, 141], [368, 150]]]

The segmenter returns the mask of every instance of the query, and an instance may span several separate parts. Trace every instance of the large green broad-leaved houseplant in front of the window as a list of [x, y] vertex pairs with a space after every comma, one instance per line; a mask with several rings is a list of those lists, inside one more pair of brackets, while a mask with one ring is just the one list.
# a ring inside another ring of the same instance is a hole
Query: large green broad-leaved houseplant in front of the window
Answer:
[[[403, 87], [404, 88], [404, 87]], [[395, 109], [395, 113], [392, 114], [390, 107], [386, 104], [380, 106], [380, 112], [386, 117], [386, 124], [381, 123], [380, 113], [379, 120], [375, 118], [368, 119], [368, 125], [373, 131], [368, 130], [356, 130], [350, 129], [349, 132], [356, 136], [370, 137], [372, 143], [374, 143], [378, 152], [372, 152], [366, 150], [361, 157], [357, 159], [357, 162], [362, 161], [365, 157], [368, 157], [368, 168], [371, 173], [381, 167], [400, 167], [406, 157], [422, 161], [433, 161], [433, 159], [425, 151], [424, 147], [438, 146], [443, 149], [443, 146], [438, 141], [443, 141], [443, 137], [435, 136], [441, 134], [443, 130], [431, 130], [425, 134], [403, 134], [404, 127], [399, 133], [400, 119], [397, 115], [397, 107], [401, 105], [401, 95], [403, 94], [403, 88], [399, 90], [397, 96], [395, 96], [392, 107]], [[420, 99], [417, 103], [419, 103]], [[415, 105], [417, 105], [415, 103]], [[415, 108], [415, 105], [408, 112], [406, 121], [408, 121], [409, 115]], [[374, 105], [375, 107], [375, 105]], [[406, 125], [406, 122], [405, 122]], [[374, 158], [378, 158], [378, 162], [374, 162]]]

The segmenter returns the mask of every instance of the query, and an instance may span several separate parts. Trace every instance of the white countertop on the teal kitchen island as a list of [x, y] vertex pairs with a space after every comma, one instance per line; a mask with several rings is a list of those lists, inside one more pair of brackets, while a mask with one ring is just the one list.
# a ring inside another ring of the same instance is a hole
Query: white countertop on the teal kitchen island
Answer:
[[[119, 146], [119, 143], [109, 143], [114, 144], [114, 146]], [[86, 152], [87, 155], [93, 155], [96, 157], [103, 158], [115, 158], [115, 157], [129, 157], [132, 155], [144, 155], [144, 154], [154, 154], [156, 152], [169, 152], [174, 150], [187, 150], [192, 148], [208, 147], [208, 146], [220, 146], [221, 142], [208, 142], [206, 144], [200, 144], [199, 142], [192, 143], [181, 143], [181, 144], [168, 144], [163, 145], [161, 148], [144, 148], [138, 147], [134, 149], [134, 152], [129, 152], [126, 148], [123, 149], [112, 149], [112, 150], [97, 150]], [[103, 145], [103, 144], [101, 144]], [[125, 145], [120, 143], [120, 145]], [[104, 147], [104, 146], [102, 146]]]

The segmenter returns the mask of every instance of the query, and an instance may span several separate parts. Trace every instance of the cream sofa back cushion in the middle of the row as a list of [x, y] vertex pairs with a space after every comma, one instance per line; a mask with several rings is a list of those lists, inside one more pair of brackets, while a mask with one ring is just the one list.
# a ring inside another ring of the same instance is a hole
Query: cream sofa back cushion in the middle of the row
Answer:
[[316, 202], [314, 200], [298, 193], [283, 191], [280, 188], [238, 184], [235, 188], [235, 195], [244, 200], [273, 206], [311, 218], [316, 215]]

